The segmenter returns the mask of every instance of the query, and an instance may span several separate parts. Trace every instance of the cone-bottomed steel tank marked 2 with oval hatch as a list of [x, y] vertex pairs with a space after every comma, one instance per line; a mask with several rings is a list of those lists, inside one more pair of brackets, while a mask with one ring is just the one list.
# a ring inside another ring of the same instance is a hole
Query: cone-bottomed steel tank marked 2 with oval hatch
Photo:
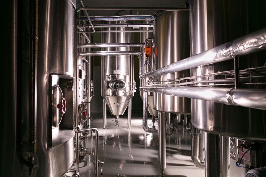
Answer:
[[[124, 23], [124, 21], [108, 22]], [[130, 30], [125, 27], [105, 28], [104, 30]], [[102, 43], [130, 43], [132, 34], [127, 32], [103, 33]], [[107, 47], [105, 51], [129, 51], [130, 47]], [[123, 115], [134, 96], [133, 60], [131, 55], [102, 56], [101, 60], [101, 97], [109, 111], [118, 118]], [[105, 110], [104, 110], [105, 111]], [[104, 124], [106, 127], [106, 124]]]

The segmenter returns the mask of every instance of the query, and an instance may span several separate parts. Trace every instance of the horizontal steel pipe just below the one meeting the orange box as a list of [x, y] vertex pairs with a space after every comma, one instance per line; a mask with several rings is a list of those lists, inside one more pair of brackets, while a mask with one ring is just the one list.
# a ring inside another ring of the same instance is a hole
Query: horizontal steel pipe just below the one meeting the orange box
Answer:
[[79, 52], [83, 56], [107, 56], [107, 55], [141, 55], [141, 51], [96, 51], [96, 52]]

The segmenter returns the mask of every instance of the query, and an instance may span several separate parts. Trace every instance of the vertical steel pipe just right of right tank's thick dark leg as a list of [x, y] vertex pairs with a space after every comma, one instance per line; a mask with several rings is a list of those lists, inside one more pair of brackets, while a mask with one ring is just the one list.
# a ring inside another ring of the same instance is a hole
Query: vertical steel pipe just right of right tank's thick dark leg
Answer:
[[230, 137], [221, 136], [221, 171], [220, 177], [229, 177]]

